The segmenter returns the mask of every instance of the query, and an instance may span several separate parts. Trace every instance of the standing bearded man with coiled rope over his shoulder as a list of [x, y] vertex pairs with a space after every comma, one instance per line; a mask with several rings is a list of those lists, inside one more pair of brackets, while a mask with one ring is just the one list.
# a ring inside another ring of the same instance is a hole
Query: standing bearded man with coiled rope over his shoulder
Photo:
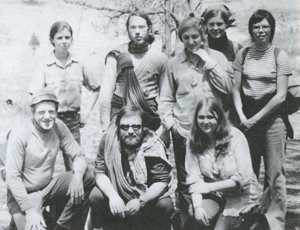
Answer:
[[[167, 56], [151, 46], [154, 37], [147, 14], [133, 12], [126, 27], [130, 42], [119, 45], [106, 56], [99, 96], [102, 131], [107, 130], [110, 121], [115, 121], [120, 108], [129, 103], [145, 112], [145, 126], [156, 131], [160, 127], [156, 111]], [[157, 133], [162, 134], [161, 138], [168, 145], [169, 132], [161, 127]]]

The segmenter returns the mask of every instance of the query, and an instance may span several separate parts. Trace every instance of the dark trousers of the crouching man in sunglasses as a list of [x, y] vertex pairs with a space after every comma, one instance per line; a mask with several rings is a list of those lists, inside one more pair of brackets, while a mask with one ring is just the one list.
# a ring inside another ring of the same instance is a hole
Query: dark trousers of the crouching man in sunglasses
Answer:
[[147, 203], [135, 216], [120, 218], [110, 212], [108, 198], [94, 187], [90, 193], [91, 219], [94, 228], [103, 230], [171, 230], [171, 197]]

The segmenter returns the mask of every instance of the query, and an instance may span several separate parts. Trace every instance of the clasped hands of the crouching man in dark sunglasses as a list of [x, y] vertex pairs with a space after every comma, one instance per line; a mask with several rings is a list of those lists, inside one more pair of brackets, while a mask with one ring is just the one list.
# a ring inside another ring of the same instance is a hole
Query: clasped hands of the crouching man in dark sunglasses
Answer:
[[122, 198], [118, 195], [109, 199], [110, 212], [114, 216], [124, 218], [125, 215], [134, 216], [140, 211], [140, 201], [138, 199], [132, 199], [125, 205]]

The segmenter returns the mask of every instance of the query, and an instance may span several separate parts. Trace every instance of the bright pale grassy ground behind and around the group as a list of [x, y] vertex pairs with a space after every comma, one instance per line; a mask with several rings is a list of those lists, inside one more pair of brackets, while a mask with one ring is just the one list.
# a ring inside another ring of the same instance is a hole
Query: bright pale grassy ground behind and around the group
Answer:
[[[109, 0], [106, 1], [109, 2]], [[90, 68], [93, 68], [99, 77], [101, 77], [105, 54], [116, 45], [128, 40], [124, 22], [108, 24], [109, 19], [105, 17], [103, 11], [70, 5], [63, 0], [37, 0], [37, 4], [28, 4], [28, 2], [29, 0], [0, 1], [0, 144], [4, 142], [6, 133], [14, 124], [21, 123], [30, 115], [29, 97], [26, 90], [37, 60], [52, 49], [48, 33], [55, 21], [65, 20], [71, 25], [74, 38], [71, 52], [86, 57]], [[205, 2], [203, 5], [203, 9], [205, 9], [209, 1], [203, 2]], [[227, 30], [228, 37], [242, 44], [249, 41], [247, 20], [252, 12], [264, 8], [273, 13], [276, 19], [274, 44], [287, 51], [290, 55], [294, 79], [299, 77], [300, 66], [297, 64], [300, 61], [300, 1], [227, 0], [225, 2], [237, 19], [237, 27]], [[113, 26], [113, 29], [109, 25]], [[35, 52], [28, 44], [33, 33], [40, 41], [40, 46]], [[156, 37], [155, 45], [160, 47], [159, 37]], [[85, 109], [89, 95], [86, 90], [83, 92], [82, 111]], [[11, 99], [13, 105], [7, 105], [5, 103], [7, 99]], [[102, 134], [99, 109], [99, 104], [96, 103], [90, 119], [81, 130], [82, 149], [91, 164], [94, 162]], [[287, 142], [288, 212], [286, 229], [300, 230], [300, 112], [290, 116], [290, 119], [294, 127], [295, 139]], [[169, 151], [171, 159], [173, 159], [172, 147]], [[174, 163], [174, 160], [172, 162]], [[60, 154], [56, 162], [56, 173], [62, 170], [63, 160]], [[261, 191], [262, 182], [263, 167], [260, 177]], [[6, 207], [6, 187], [0, 179], [0, 230], [7, 229], [9, 221], [10, 215]]]

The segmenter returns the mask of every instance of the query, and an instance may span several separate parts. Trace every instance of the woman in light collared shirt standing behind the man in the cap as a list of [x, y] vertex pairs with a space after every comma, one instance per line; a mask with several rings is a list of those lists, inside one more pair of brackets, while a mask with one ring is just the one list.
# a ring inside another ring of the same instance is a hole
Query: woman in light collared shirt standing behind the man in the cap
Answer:
[[[40, 88], [48, 87], [59, 101], [58, 118], [63, 121], [80, 144], [80, 131], [96, 103], [100, 89], [100, 78], [94, 76], [82, 60], [69, 52], [73, 42], [73, 31], [65, 21], [56, 21], [50, 29], [49, 39], [54, 50], [37, 64], [29, 85], [32, 95]], [[81, 90], [85, 86], [92, 91], [87, 113], [80, 116]], [[66, 170], [72, 169], [72, 162], [63, 154]]]

